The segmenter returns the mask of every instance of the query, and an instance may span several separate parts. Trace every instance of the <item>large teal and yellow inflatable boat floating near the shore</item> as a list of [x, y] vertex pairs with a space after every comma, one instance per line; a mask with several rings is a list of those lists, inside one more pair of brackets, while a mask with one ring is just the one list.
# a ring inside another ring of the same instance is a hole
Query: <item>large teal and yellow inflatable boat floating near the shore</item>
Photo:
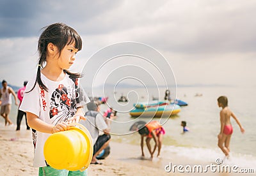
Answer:
[[148, 103], [137, 103], [130, 111], [132, 117], [170, 117], [178, 114], [179, 105], [170, 104], [168, 101], [150, 101]]

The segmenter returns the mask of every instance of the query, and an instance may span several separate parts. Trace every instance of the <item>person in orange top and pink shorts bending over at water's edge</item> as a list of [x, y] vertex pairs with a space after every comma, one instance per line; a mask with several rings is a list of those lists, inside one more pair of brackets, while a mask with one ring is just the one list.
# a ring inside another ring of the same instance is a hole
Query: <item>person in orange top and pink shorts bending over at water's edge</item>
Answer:
[[[148, 151], [150, 152], [150, 159], [153, 159], [154, 152], [156, 151], [156, 147], [158, 146], [157, 157], [160, 156], [160, 151], [162, 147], [163, 135], [165, 134], [163, 126], [159, 124], [157, 121], [152, 121], [146, 124], [143, 128], [139, 129], [138, 132], [141, 135], [141, 157], [144, 158], [145, 154], [143, 151], [144, 145], [144, 137], [146, 137], [146, 143], [148, 147]], [[151, 149], [150, 140], [154, 139], [155, 146], [154, 149]]]

